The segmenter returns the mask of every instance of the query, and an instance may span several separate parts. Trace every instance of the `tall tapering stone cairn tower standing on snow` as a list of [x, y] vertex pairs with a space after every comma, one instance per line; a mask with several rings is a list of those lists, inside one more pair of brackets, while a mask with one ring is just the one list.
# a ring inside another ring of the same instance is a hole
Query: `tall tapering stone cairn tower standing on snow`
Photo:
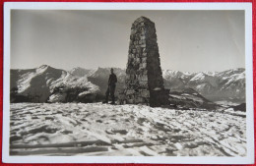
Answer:
[[155, 24], [140, 17], [131, 28], [129, 56], [122, 104], [168, 105], [160, 69], [160, 54]]

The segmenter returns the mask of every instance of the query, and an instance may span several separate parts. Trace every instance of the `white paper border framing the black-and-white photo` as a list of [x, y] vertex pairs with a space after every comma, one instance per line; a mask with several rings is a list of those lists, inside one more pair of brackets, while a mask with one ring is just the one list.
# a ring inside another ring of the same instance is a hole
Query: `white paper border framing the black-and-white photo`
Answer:
[[[245, 157], [145, 157], [145, 156], [10, 156], [10, 35], [11, 10], [244, 10], [246, 72]], [[5, 2], [4, 3], [4, 86], [3, 146], [4, 163], [162, 163], [162, 164], [253, 164], [253, 54], [251, 3], [87, 3], [87, 2]]]

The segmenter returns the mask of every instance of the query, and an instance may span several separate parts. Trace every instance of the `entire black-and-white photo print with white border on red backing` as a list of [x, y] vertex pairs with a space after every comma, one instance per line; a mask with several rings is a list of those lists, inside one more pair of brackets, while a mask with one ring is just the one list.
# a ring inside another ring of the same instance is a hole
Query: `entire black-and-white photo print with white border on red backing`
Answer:
[[6, 158], [254, 162], [250, 5], [28, 4], [6, 10]]

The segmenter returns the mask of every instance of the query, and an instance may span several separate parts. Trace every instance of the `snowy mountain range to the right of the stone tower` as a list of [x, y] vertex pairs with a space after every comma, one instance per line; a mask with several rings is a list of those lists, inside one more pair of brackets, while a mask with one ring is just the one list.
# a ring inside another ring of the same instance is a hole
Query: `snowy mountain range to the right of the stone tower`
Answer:
[[171, 91], [189, 87], [213, 101], [245, 102], [245, 70], [242, 68], [199, 73], [164, 70], [162, 77], [165, 87]]

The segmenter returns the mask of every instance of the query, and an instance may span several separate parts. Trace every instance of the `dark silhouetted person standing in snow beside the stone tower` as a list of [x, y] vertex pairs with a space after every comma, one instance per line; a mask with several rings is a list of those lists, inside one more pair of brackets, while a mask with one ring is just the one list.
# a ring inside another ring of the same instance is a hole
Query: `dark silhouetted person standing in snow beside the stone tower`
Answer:
[[114, 70], [111, 68], [110, 70], [111, 74], [109, 75], [108, 79], [108, 86], [105, 92], [105, 101], [103, 103], [108, 103], [108, 96], [110, 94], [112, 102], [111, 104], [114, 104], [114, 90], [115, 90], [115, 83], [117, 82], [116, 75], [114, 74]]

